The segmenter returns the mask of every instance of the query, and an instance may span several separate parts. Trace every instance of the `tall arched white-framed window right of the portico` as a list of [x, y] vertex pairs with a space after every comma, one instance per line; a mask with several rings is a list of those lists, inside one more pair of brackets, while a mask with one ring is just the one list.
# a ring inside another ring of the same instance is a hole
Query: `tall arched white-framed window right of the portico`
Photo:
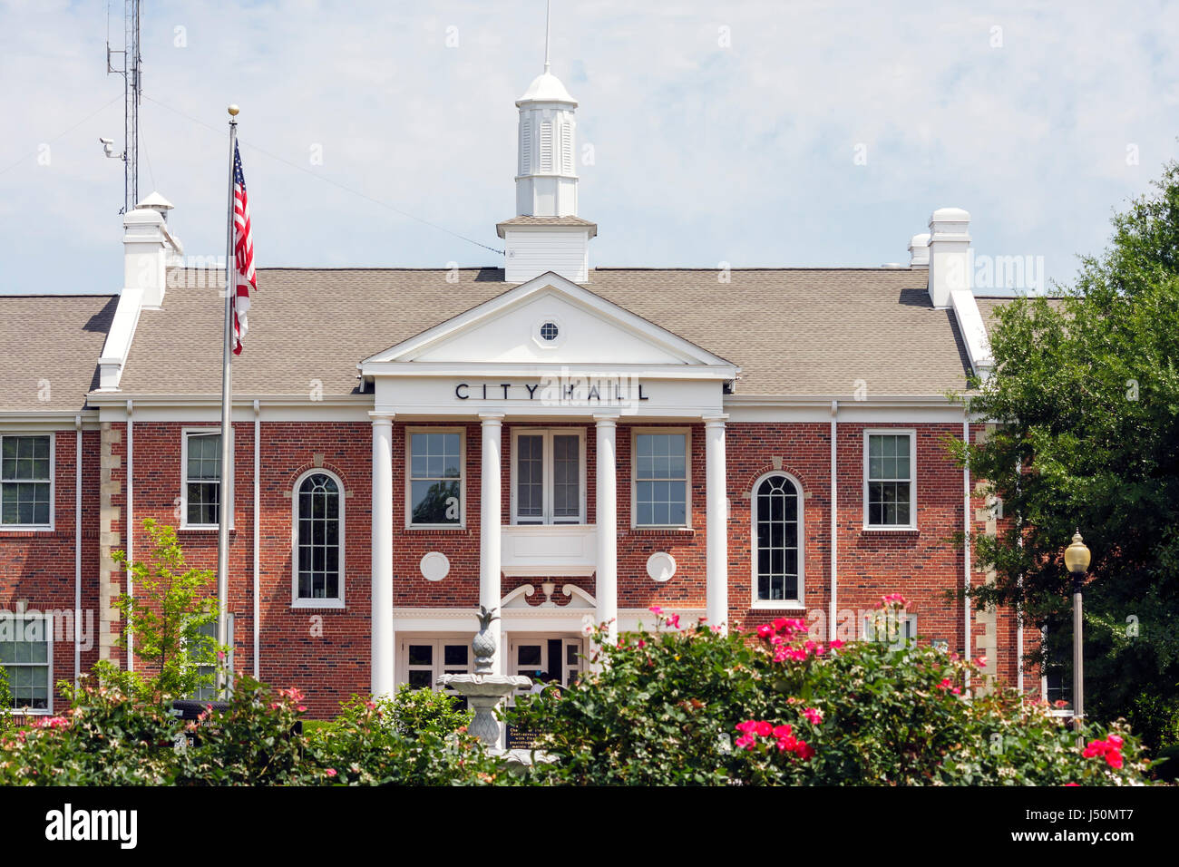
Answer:
[[775, 471], [753, 482], [753, 607], [802, 606], [805, 538], [798, 480]]

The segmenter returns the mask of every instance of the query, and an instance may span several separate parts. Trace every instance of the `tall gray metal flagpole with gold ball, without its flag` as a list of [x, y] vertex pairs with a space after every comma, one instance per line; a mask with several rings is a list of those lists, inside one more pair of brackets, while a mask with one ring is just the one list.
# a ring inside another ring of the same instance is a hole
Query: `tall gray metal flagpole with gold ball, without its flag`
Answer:
[[[233, 504], [233, 296], [237, 294], [237, 269], [233, 260], [233, 153], [237, 147], [236, 105], [229, 106], [229, 203], [225, 226], [225, 327], [222, 344], [222, 490], [217, 523], [217, 646], [225, 646], [229, 600], [229, 515]], [[218, 661], [217, 697], [225, 697], [225, 666]]]

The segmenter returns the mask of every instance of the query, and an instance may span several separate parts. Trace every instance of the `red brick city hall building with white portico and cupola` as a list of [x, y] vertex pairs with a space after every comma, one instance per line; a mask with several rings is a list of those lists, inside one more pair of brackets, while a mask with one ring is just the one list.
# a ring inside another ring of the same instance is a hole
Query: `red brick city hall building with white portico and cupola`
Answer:
[[111, 554], [154, 518], [213, 569], [228, 475], [233, 666], [320, 715], [468, 670], [480, 604], [503, 671], [564, 679], [587, 623], [651, 605], [863, 639], [901, 592], [903, 637], [1039, 688], [1014, 618], [957, 596], [987, 574], [955, 537], [994, 532], [946, 448], [984, 432], [947, 398], [990, 364], [968, 215], [908, 267], [591, 268], [577, 104], [546, 72], [516, 105], [505, 268], [258, 271], [231, 474], [223, 275], [184, 265], [164, 199], [124, 219], [119, 295], [0, 298], [0, 610], [42, 624], [0, 633], [17, 705], [134, 663]]

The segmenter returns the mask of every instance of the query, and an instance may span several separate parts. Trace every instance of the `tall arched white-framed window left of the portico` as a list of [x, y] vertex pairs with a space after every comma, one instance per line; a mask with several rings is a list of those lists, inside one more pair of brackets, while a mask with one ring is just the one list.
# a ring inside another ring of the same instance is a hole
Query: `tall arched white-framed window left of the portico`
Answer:
[[344, 485], [315, 467], [291, 492], [291, 605], [344, 606]]

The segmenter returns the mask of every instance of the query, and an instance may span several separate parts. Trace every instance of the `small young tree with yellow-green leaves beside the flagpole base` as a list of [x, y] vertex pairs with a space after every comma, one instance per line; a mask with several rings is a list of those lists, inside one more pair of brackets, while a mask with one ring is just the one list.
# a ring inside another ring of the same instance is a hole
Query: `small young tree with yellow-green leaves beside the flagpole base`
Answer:
[[[218, 664], [218, 657], [224, 658], [223, 649], [203, 631], [217, 619], [216, 599], [205, 592], [215, 573], [185, 566], [172, 527], [147, 518], [144, 530], [151, 539], [151, 556], [130, 564], [134, 597], [123, 593], [114, 603], [123, 622], [119, 645], [126, 648], [133, 635], [140, 671], [149, 676], [149, 690], [182, 698], [209, 687], [210, 670]], [[129, 567], [125, 551], [116, 551], [112, 558]]]

